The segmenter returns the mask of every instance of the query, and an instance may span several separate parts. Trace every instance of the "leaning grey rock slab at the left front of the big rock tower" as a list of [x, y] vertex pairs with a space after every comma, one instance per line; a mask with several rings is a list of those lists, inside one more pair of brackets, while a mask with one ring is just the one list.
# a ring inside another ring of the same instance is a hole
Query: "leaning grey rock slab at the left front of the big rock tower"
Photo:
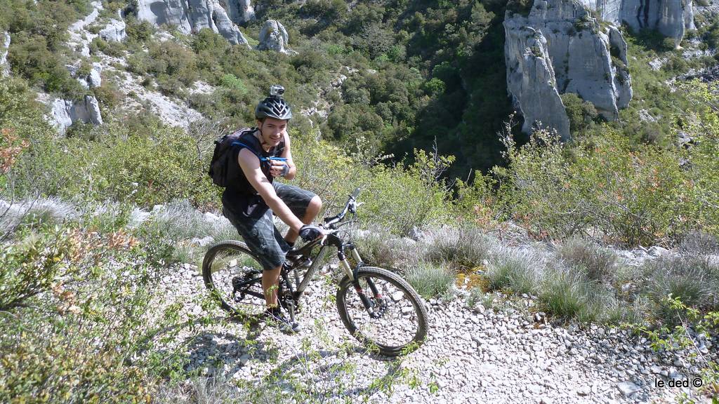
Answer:
[[531, 132], [539, 125], [556, 129], [562, 139], [569, 139], [569, 118], [557, 92], [546, 38], [523, 19], [506, 18], [504, 27], [507, 88], [524, 116], [522, 130]]

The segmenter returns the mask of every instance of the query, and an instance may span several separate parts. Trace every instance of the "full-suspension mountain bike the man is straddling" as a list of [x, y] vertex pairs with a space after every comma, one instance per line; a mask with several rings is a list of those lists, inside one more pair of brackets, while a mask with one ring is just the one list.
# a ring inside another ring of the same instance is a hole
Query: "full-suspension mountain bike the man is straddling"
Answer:
[[[337, 252], [344, 272], [336, 291], [336, 306], [342, 323], [358, 341], [380, 354], [397, 356], [418, 346], [427, 334], [427, 313], [422, 299], [395, 272], [362, 262], [351, 232], [343, 226], [347, 213], [357, 215], [359, 188], [354, 190], [342, 212], [326, 217], [320, 226], [324, 239], [290, 250], [280, 271], [278, 303], [295, 322], [303, 294], [324, 263], [330, 249]], [[350, 262], [352, 261], [352, 262]], [[243, 242], [229, 240], [209, 248], [202, 276], [221, 307], [237, 316], [261, 316], [265, 311], [262, 265]]]

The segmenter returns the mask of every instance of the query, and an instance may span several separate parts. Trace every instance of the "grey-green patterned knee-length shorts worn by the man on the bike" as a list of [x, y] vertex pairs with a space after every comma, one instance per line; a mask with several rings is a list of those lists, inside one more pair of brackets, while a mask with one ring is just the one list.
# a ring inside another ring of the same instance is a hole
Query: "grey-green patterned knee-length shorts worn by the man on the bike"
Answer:
[[[302, 219], [315, 194], [294, 185], [278, 182], [273, 185], [277, 196], [295, 216]], [[290, 245], [275, 227], [271, 209], [267, 209], [265, 214], [257, 219], [249, 217], [240, 219], [226, 207], [222, 208], [222, 213], [237, 229], [247, 247], [260, 257], [260, 263], [265, 270], [272, 270], [285, 262], [285, 254], [290, 250]]]

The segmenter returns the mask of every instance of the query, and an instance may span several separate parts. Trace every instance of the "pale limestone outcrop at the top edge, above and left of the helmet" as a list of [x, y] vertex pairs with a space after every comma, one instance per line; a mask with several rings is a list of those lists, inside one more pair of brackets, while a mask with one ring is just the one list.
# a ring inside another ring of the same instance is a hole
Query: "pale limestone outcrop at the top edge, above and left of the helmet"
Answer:
[[219, 0], [137, 0], [137, 18], [155, 25], [176, 25], [184, 34], [209, 28], [233, 44], [247, 45]]

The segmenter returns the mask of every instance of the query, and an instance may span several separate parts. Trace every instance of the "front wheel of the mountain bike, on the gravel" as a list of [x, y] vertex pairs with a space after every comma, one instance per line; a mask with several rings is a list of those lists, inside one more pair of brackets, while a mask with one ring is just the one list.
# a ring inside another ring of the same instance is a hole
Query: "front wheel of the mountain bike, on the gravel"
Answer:
[[339, 317], [350, 334], [370, 349], [392, 357], [421, 344], [429, 327], [427, 312], [411, 285], [394, 272], [377, 267], [360, 268], [357, 280], [359, 288], [345, 276], [336, 295]]

